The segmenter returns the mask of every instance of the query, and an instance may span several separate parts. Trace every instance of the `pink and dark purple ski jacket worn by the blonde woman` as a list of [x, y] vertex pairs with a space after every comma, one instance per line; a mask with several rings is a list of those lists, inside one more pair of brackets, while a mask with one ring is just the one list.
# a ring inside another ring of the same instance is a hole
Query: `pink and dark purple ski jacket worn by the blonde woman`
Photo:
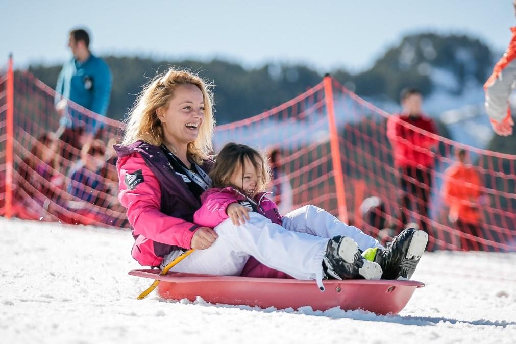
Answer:
[[[115, 146], [119, 156], [119, 200], [127, 208], [135, 243], [131, 252], [142, 266], [159, 266], [173, 250], [190, 249], [193, 234], [200, 226], [193, 213], [201, 204], [180, 175], [169, 166], [157, 146], [137, 141]], [[204, 160], [205, 172], [213, 160]]]

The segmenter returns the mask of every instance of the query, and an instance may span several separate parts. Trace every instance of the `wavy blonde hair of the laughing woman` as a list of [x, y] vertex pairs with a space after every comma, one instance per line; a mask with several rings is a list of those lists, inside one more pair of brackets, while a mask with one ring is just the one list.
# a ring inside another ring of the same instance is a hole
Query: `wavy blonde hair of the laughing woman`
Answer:
[[188, 143], [187, 149], [188, 156], [201, 164], [207, 154], [213, 151], [212, 138], [215, 127], [213, 85], [205, 83], [197, 74], [186, 70], [170, 68], [156, 75], [143, 86], [125, 120], [122, 145], [130, 145], [138, 140], [155, 146], [162, 145], [163, 127], [157, 116], [157, 110], [166, 109], [174, 97], [175, 89], [187, 84], [197, 86], [202, 92], [204, 101], [204, 120], [199, 128], [199, 135], [195, 141]]

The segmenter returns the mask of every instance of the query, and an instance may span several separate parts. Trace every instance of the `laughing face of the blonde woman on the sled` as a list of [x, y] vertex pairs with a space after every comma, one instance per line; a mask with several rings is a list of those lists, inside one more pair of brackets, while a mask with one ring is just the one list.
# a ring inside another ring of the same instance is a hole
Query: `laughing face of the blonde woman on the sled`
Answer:
[[162, 121], [166, 142], [181, 146], [195, 141], [204, 120], [201, 90], [192, 84], [176, 87], [168, 108], [158, 109], [157, 114]]

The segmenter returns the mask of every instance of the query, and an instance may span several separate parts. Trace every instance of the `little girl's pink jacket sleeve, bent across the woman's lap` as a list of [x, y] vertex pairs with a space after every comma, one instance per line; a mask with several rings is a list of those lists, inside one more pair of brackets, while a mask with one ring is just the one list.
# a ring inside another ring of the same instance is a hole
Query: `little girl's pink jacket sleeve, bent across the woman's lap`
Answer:
[[213, 192], [202, 202], [201, 208], [193, 215], [193, 221], [201, 226], [215, 227], [229, 218], [226, 209], [238, 201], [228, 192]]

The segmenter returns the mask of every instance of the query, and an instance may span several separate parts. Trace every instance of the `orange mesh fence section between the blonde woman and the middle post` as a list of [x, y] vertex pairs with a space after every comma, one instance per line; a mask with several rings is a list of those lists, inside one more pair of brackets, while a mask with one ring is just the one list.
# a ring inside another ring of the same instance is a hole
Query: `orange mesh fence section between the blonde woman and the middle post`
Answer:
[[[272, 182], [280, 213], [316, 204], [336, 214], [328, 118], [322, 83], [295, 99], [246, 120], [219, 125], [215, 149], [227, 142], [264, 153], [279, 149], [279, 170]], [[279, 194], [279, 196], [278, 196]]]

